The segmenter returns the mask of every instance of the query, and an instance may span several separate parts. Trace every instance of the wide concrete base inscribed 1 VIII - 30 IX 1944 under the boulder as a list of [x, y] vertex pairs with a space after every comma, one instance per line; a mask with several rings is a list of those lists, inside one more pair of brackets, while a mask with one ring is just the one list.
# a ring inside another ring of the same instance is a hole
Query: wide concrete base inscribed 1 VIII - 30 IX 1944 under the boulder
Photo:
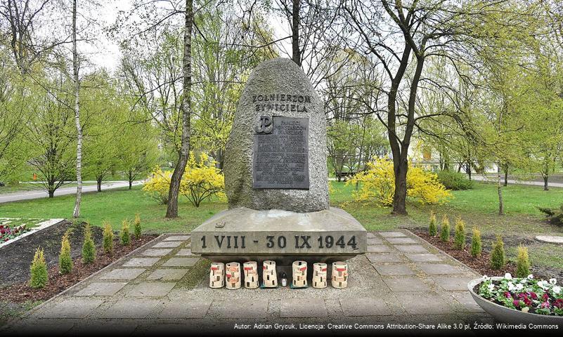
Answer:
[[297, 213], [240, 207], [216, 214], [191, 232], [191, 249], [216, 262], [347, 260], [367, 249], [367, 232], [353, 216], [331, 207]]

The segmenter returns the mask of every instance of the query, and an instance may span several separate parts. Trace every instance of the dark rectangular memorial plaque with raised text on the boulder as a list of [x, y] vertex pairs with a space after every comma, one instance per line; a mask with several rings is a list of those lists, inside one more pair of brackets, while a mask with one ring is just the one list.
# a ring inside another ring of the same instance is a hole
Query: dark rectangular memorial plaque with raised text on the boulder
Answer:
[[255, 131], [252, 187], [309, 190], [309, 119], [261, 116]]

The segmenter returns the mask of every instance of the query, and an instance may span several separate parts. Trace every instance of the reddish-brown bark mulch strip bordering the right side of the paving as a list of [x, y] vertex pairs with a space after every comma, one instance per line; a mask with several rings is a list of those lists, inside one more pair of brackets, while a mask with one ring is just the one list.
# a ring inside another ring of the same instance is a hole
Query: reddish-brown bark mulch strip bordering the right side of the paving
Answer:
[[472, 268], [472, 270], [481, 273], [481, 275], [499, 276], [505, 275], [505, 273], [507, 272], [510, 272], [510, 274], [515, 274], [516, 265], [510, 262], [507, 263], [501, 270], [492, 269], [491, 254], [487, 253], [486, 251], [483, 251], [481, 253], [481, 256], [479, 256], [478, 258], [474, 258], [471, 255], [471, 252], [469, 250], [470, 246], [468, 244], [465, 245], [464, 250], [460, 251], [458, 249], [453, 249], [453, 241], [442, 242], [439, 237], [431, 237], [427, 232], [423, 232], [422, 230], [415, 230], [414, 233], [419, 237], [422, 237], [422, 239], [425, 239], [433, 246], [436, 246], [442, 251], [450, 254], [451, 256], [453, 256], [453, 258], [460, 260], [462, 263]]

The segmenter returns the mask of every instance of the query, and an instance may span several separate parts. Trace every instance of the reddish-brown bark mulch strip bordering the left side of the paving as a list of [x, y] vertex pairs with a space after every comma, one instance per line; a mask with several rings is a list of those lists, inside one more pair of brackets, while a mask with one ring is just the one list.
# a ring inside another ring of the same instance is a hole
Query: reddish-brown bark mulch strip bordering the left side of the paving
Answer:
[[103, 253], [101, 247], [96, 247], [96, 260], [88, 265], [82, 263], [82, 258], [74, 258], [74, 266], [72, 272], [66, 275], [60, 275], [58, 265], [50, 267], [48, 270], [48, 283], [43, 289], [33, 289], [27, 282], [13, 284], [4, 289], [0, 289], [0, 298], [13, 303], [22, 303], [27, 300], [47, 300], [56, 294], [68, 289], [70, 286], [77, 284], [94, 272], [101, 270], [103, 267], [118, 260], [127, 253], [134, 251], [143, 244], [155, 239], [156, 235], [143, 235], [140, 239], [131, 238], [129, 246], [122, 246], [119, 239], [114, 240], [114, 253], [108, 255]]

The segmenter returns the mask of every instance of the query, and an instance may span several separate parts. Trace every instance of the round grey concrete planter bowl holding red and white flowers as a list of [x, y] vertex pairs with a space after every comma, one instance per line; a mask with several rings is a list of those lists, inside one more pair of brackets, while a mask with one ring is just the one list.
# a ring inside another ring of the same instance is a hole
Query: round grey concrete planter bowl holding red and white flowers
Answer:
[[[499, 281], [500, 279], [503, 279], [503, 277], [491, 277], [491, 279], [493, 279], [493, 281]], [[481, 282], [483, 282], [482, 278], [473, 279], [469, 282], [469, 284], [467, 284], [467, 288], [469, 288], [471, 296], [473, 296], [475, 302], [477, 302], [477, 304], [485, 310], [485, 312], [493, 316], [497, 322], [510, 324], [558, 324], [559, 326], [562, 326], [562, 316], [546, 316], [522, 312], [520, 310], [506, 308], [503, 305], [498, 305], [486, 298], [482, 298], [478, 293], [473, 291], [474, 287]]]

